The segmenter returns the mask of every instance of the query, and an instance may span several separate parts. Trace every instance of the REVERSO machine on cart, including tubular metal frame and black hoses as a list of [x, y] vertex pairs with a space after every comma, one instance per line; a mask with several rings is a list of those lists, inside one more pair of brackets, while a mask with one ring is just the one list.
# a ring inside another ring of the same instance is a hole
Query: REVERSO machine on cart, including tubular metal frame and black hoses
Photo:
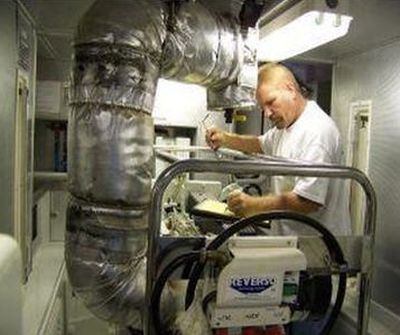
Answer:
[[[160, 157], [173, 160], [170, 155]], [[178, 161], [154, 185], [145, 334], [290, 334], [292, 322], [305, 320], [320, 320], [321, 334], [329, 334], [343, 304], [347, 277], [357, 274], [361, 282], [358, 334], [366, 334], [372, 261], [368, 245], [373, 240], [375, 217], [375, 195], [368, 179], [352, 168], [268, 159], [229, 160], [229, 171], [234, 173], [262, 171], [357, 180], [367, 194], [365, 235], [335, 237], [308, 216], [272, 211], [234, 221], [211, 238], [160, 236], [160, 197], [174, 176], [193, 171], [226, 172], [227, 163], [224, 159]], [[240, 236], [248, 227], [264, 228], [265, 222], [273, 220], [299, 221], [317, 236]], [[185, 297], [181, 305], [172, 304], [166, 295], [169, 285], [176, 282], [184, 283], [183, 289], [175, 292]]]

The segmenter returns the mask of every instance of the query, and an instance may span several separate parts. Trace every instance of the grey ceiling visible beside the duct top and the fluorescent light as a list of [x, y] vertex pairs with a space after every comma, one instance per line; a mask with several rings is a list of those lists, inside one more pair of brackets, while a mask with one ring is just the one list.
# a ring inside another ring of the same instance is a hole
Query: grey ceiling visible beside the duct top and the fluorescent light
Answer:
[[[38, 57], [70, 60], [72, 36], [81, 15], [95, 0], [21, 0], [38, 27]], [[305, 0], [311, 1], [311, 0]], [[341, 0], [354, 17], [342, 39], [307, 52], [298, 59], [333, 62], [400, 38], [400, 0]], [[268, 2], [267, 2], [268, 3]], [[269, 1], [272, 6], [277, 1]]]

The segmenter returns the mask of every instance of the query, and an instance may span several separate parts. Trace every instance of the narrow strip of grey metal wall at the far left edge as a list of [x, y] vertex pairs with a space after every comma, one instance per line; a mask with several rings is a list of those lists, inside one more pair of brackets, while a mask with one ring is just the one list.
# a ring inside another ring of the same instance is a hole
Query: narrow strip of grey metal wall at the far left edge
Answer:
[[13, 233], [13, 146], [16, 85], [16, 4], [0, 1], [0, 232]]

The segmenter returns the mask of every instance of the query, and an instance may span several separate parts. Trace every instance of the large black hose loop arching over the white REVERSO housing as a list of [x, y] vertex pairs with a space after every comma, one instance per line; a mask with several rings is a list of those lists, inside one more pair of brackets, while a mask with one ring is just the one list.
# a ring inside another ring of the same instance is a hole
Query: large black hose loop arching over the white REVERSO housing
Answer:
[[[237, 221], [235, 224], [233, 224], [231, 227], [223, 231], [221, 234], [219, 234], [207, 246], [207, 250], [215, 250], [219, 248], [230, 237], [238, 233], [243, 228], [247, 227], [250, 224], [257, 224], [258, 222], [265, 220], [295, 220], [314, 228], [315, 230], [317, 230], [319, 233], [322, 234], [322, 239], [328, 248], [332, 260], [334, 260], [341, 267], [345, 267], [347, 265], [344, 260], [343, 251], [339, 243], [337, 242], [335, 236], [328, 229], [326, 229], [318, 221], [310, 218], [309, 216], [290, 211], [271, 211], [267, 213], [257, 214], [249, 218], [241, 219]], [[185, 298], [186, 309], [189, 308], [194, 299], [197, 282], [200, 279], [203, 269], [204, 269], [204, 263], [196, 263], [191, 272], [188, 287], [186, 290], [186, 298]], [[340, 309], [343, 304], [344, 295], [346, 292], [346, 279], [347, 279], [346, 273], [341, 272], [339, 276], [339, 289], [336, 301], [330, 313], [329, 320], [327, 321], [322, 330], [323, 335], [329, 334], [334, 322], [336, 321], [337, 316], [339, 315]]]

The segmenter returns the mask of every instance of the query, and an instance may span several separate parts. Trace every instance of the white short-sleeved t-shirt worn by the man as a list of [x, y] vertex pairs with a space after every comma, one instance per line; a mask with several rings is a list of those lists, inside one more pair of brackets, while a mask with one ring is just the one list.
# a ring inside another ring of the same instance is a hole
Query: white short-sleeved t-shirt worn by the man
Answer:
[[[259, 137], [264, 153], [312, 163], [339, 165], [343, 152], [339, 131], [333, 120], [314, 102], [307, 101], [299, 118], [288, 128], [276, 127]], [[324, 224], [335, 235], [351, 233], [348, 192], [345, 182], [337, 178], [274, 176], [272, 188], [276, 194], [295, 192], [299, 196], [321, 204], [309, 214]], [[301, 223], [282, 225], [281, 233], [309, 234]], [[293, 228], [293, 229], [291, 229]]]

